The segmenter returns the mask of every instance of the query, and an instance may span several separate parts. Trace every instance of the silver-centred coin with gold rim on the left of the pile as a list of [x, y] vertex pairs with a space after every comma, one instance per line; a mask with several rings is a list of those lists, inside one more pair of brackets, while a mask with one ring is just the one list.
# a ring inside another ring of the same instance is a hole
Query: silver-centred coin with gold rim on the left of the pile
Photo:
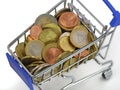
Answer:
[[26, 44], [25, 53], [27, 56], [34, 56], [41, 59], [41, 52], [43, 47], [43, 42], [40, 40], [33, 40]]

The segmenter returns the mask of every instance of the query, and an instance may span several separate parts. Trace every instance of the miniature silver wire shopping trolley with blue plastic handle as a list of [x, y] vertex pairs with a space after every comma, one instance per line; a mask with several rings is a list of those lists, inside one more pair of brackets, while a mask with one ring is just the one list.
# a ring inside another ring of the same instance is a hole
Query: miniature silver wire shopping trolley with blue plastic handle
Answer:
[[[67, 76], [64, 75], [64, 71], [67, 70], [69, 72], [71, 70], [71, 67], [75, 66], [78, 67], [81, 65], [81, 61], [84, 64], [89, 60], [90, 56], [94, 55], [94, 58], [92, 60], [95, 60], [96, 63], [100, 66], [106, 67], [98, 70], [97, 72], [91, 73], [90, 75], [84, 76], [83, 78], [80, 78], [77, 81], [72, 80], [69, 84], [65, 85], [64, 87], [61, 87], [61, 90], [64, 90], [68, 87], [71, 87], [75, 84], [80, 83], [81, 81], [84, 81], [88, 78], [91, 78], [97, 74], [102, 73], [102, 76], [104, 79], [110, 79], [112, 75], [111, 67], [113, 65], [113, 62], [105, 61], [108, 49], [110, 47], [110, 43], [112, 40], [112, 37], [114, 35], [114, 32], [118, 25], [120, 25], [120, 13], [114, 9], [114, 7], [109, 3], [108, 0], [103, 0], [105, 4], [110, 8], [110, 10], [113, 13], [113, 19], [110, 22], [110, 25], [103, 25], [101, 21], [99, 21], [81, 2], [80, 0], [62, 0], [59, 3], [57, 3], [53, 8], [51, 8], [47, 13], [48, 14], [55, 14], [57, 13], [58, 8], [70, 8], [71, 11], [77, 13], [79, 18], [81, 19], [81, 22], [83, 25], [88, 28], [89, 32], [91, 32], [94, 36], [94, 40], [90, 42], [88, 45], [84, 46], [83, 48], [77, 49], [75, 52], [70, 54], [69, 56], [63, 58], [59, 62], [55, 63], [54, 65], [51, 65], [48, 68], [43, 69], [40, 73], [36, 75], [32, 75], [26, 67], [20, 62], [19, 58], [15, 54], [15, 46], [19, 44], [21, 41], [24, 41], [26, 39], [26, 34], [30, 30], [31, 26], [27, 28], [24, 32], [22, 32], [17, 38], [15, 38], [9, 45], [8, 45], [8, 51], [9, 53], [6, 53], [6, 56], [8, 58], [8, 61], [10, 63], [10, 66], [14, 69], [14, 71], [21, 77], [21, 79], [26, 83], [26, 85], [30, 88], [30, 90], [34, 90], [33, 85], [37, 86], [41, 90], [41, 85], [43, 85], [45, 82], [49, 82], [52, 78], [55, 78], [56, 76], [62, 76], [64, 78], [67, 78]], [[82, 12], [81, 12], [82, 11]], [[84, 13], [85, 11], [85, 13]], [[89, 15], [90, 18], [87, 18], [85, 15]], [[92, 18], [92, 20], [90, 20]], [[93, 23], [94, 21], [95, 23]], [[89, 27], [88, 25], [89, 24]], [[108, 38], [110, 37], [110, 38]], [[109, 39], [106, 43], [106, 39]], [[63, 63], [66, 61], [71, 61], [71, 59], [78, 54], [81, 54], [82, 51], [86, 49], [90, 49], [93, 45], [97, 46], [97, 49], [90, 53], [89, 55], [85, 56], [84, 58], [78, 58], [78, 60], [74, 63], [69, 63], [68, 67], [65, 69], [62, 69]], [[104, 50], [105, 53], [103, 54], [101, 51]], [[57, 73], [54, 73], [54, 69], [56, 67], [61, 67]], [[40, 82], [37, 82], [36, 79], [41, 79]], [[70, 77], [68, 77], [70, 78]], [[71, 77], [72, 79], [72, 77]]]

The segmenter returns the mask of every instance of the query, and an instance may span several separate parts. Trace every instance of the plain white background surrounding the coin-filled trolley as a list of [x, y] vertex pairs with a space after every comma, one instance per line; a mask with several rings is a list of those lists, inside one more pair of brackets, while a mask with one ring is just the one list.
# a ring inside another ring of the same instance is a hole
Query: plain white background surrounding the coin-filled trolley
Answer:
[[[29, 90], [18, 75], [10, 68], [5, 53], [7, 45], [16, 36], [31, 25], [36, 17], [48, 11], [59, 0], [1, 0], [0, 1], [0, 90]], [[120, 0], [110, 0], [117, 10], [120, 11]], [[112, 13], [105, 6], [102, 0], [81, 0], [93, 13], [102, 21], [110, 22]], [[108, 24], [108, 23], [107, 23]], [[108, 58], [113, 60], [113, 76], [109, 81], [102, 80], [100, 75], [82, 82], [67, 90], [120, 90], [120, 26], [115, 32], [112, 44], [108, 53]], [[95, 63], [91, 63], [82, 68], [82, 72], [90, 72], [95, 69]], [[90, 68], [92, 66], [92, 68]], [[54, 81], [54, 80], [53, 80]], [[59, 82], [63, 83], [63, 82]], [[46, 85], [45, 90], [53, 90], [51, 87], [59, 87], [51, 84]], [[44, 86], [43, 86], [44, 87]], [[54, 89], [56, 90], [56, 89]]]

